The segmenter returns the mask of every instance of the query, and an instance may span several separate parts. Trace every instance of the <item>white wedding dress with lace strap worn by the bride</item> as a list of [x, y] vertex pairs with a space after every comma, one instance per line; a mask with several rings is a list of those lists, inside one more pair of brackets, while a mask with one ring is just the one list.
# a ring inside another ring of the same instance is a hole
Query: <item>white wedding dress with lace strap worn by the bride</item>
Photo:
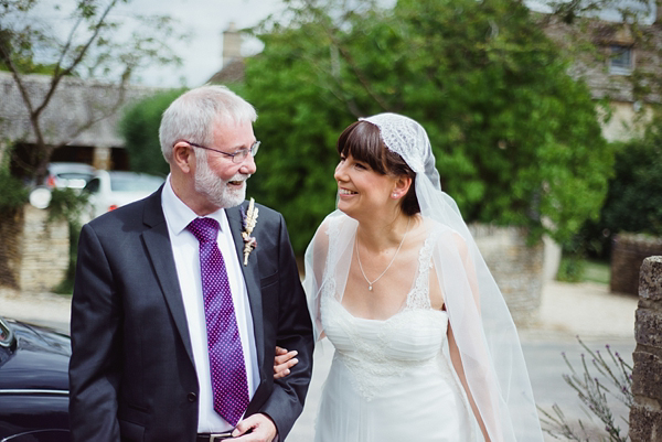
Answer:
[[426, 239], [414, 287], [388, 320], [350, 314], [333, 281], [322, 290], [321, 321], [335, 354], [316, 442], [482, 440], [444, 349], [448, 315], [430, 306], [435, 240], [434, 233]]

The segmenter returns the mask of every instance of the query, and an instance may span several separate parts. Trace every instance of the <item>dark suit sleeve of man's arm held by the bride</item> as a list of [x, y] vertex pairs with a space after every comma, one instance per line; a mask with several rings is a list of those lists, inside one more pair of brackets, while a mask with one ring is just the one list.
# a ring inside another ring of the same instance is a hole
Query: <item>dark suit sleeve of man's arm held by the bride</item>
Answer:
[[299, 352], [290, 375], [277, 379], [274, 391], [261, 412], [268, 414], [280, 440], [289, 433], [303, 409], [303, 400], [312, 375], [313, 335], [306, 295], [285, 220], [279, 223], [279, 309], [277, 345]]

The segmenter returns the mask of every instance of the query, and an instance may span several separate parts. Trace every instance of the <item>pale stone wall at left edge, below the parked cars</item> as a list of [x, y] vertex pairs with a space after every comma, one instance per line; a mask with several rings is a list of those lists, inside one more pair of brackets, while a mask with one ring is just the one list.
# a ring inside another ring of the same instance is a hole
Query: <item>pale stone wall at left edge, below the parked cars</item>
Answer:
[[49, 212], [25, 205], [0, 223], [0, 284], [20, 292], [51, 291], [65, 277], [66, 222], [46, 223]]

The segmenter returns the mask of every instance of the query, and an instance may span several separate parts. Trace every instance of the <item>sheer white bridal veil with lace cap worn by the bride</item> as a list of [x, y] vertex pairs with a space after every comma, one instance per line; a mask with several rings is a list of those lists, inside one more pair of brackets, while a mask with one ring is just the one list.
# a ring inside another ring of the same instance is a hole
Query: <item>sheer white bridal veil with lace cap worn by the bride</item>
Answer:
[[[396, 114], [362, 120], [375, 125], [387, 149], [414, 170], [420, 214], [439, 226], [434, 269], [469, 389], [491, 441], [543, 441], [515, 325], [457, 204], [441, 191], [425, 129]], [[331, 291], [338, 298], [344, 293], [357, 225], [340, 211], [331, 213], [306, 251], [305, 289], [318, 338], [324, 332], [322, 292]], [[330, 240], [333, 247], [329, 247]]]

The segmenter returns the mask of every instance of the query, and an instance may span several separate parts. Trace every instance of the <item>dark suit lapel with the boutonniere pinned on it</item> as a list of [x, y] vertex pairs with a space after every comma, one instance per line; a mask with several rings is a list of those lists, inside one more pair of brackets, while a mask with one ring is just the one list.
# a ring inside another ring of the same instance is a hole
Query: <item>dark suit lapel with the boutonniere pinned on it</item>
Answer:
[[[244, 203], [245, 205], [246, 203]], [[232, 238], [235, 242], [239, 267], [244, 273], [246, 282], [246, 291], [248, 292], [248, 302], [250, 303], [250, 314], [253, 316], [253, 331], [255, 333], [255, 346], [257, 349], [257, 366], [260, 369], [264, 363], [264, 323], [263, 323], [263, 305], [261, 291], [259, 285], [259, 267], [257, 263], [257, 254], [254, 251], [248, 257], [248, 265], [244, 266], [244, 240], [242, 239], [242, 213], [239, 206], [225, 209]]]

